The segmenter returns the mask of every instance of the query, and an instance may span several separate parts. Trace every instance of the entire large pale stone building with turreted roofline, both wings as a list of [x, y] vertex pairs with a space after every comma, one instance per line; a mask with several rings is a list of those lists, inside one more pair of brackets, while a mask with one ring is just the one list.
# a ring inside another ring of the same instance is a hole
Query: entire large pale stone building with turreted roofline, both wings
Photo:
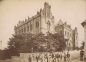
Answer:
[[44, 8], [40, 9], [36, 15], [32, 16], [31, 18], [25, 19], [24, 21], [19, 21], [17, 26], [14, 27], [15, 34], [23, 34], [23, 33], [62, 33], [64, 39], [67, 44], [67, 48], [71, 48], [75, 46], [77, 43], [77, 29], [72, 30], [71, 26], [68, 25], [66, 22], [63, 23], [61, 20], [55, 26], [54, 24], [54, 16], [51, 12], [51, 6], [48, 3], [44, 3]]

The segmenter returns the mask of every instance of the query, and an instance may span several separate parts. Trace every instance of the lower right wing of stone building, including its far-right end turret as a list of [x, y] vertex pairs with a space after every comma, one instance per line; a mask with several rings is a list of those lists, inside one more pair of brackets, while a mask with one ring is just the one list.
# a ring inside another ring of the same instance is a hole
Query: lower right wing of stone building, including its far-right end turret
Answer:
[[55, 32], [61, 34], [64, 37], [66, 42], [67, 49], [78, 47], [78, 33], [77, 28], [74, 30], [71, 28], [71, 25], [67, 24], [62, 20], [59, 20], [58, 24], [55, 26]]

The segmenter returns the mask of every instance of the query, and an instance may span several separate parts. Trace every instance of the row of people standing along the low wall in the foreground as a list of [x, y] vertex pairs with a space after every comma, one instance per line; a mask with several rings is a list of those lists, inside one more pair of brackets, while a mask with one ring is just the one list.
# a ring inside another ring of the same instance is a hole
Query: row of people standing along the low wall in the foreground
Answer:
[[29, 56], [28, 62], [70, 62], [70, 53], [41, 53], [33, 56], [33, 59], [32, 56]]

